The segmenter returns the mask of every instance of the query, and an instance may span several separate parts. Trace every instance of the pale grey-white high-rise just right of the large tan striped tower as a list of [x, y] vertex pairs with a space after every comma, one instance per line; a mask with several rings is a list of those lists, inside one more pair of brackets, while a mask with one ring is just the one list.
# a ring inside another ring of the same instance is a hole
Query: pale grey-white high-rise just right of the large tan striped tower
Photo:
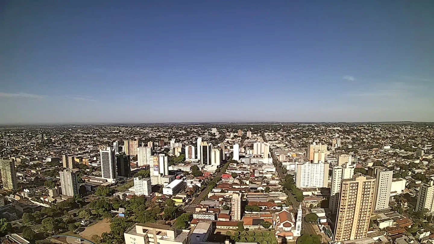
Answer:
[[374, 211], [389, 208], [393, 171], [375, 167], [368, 169], [368, 175], [375, 177]]

